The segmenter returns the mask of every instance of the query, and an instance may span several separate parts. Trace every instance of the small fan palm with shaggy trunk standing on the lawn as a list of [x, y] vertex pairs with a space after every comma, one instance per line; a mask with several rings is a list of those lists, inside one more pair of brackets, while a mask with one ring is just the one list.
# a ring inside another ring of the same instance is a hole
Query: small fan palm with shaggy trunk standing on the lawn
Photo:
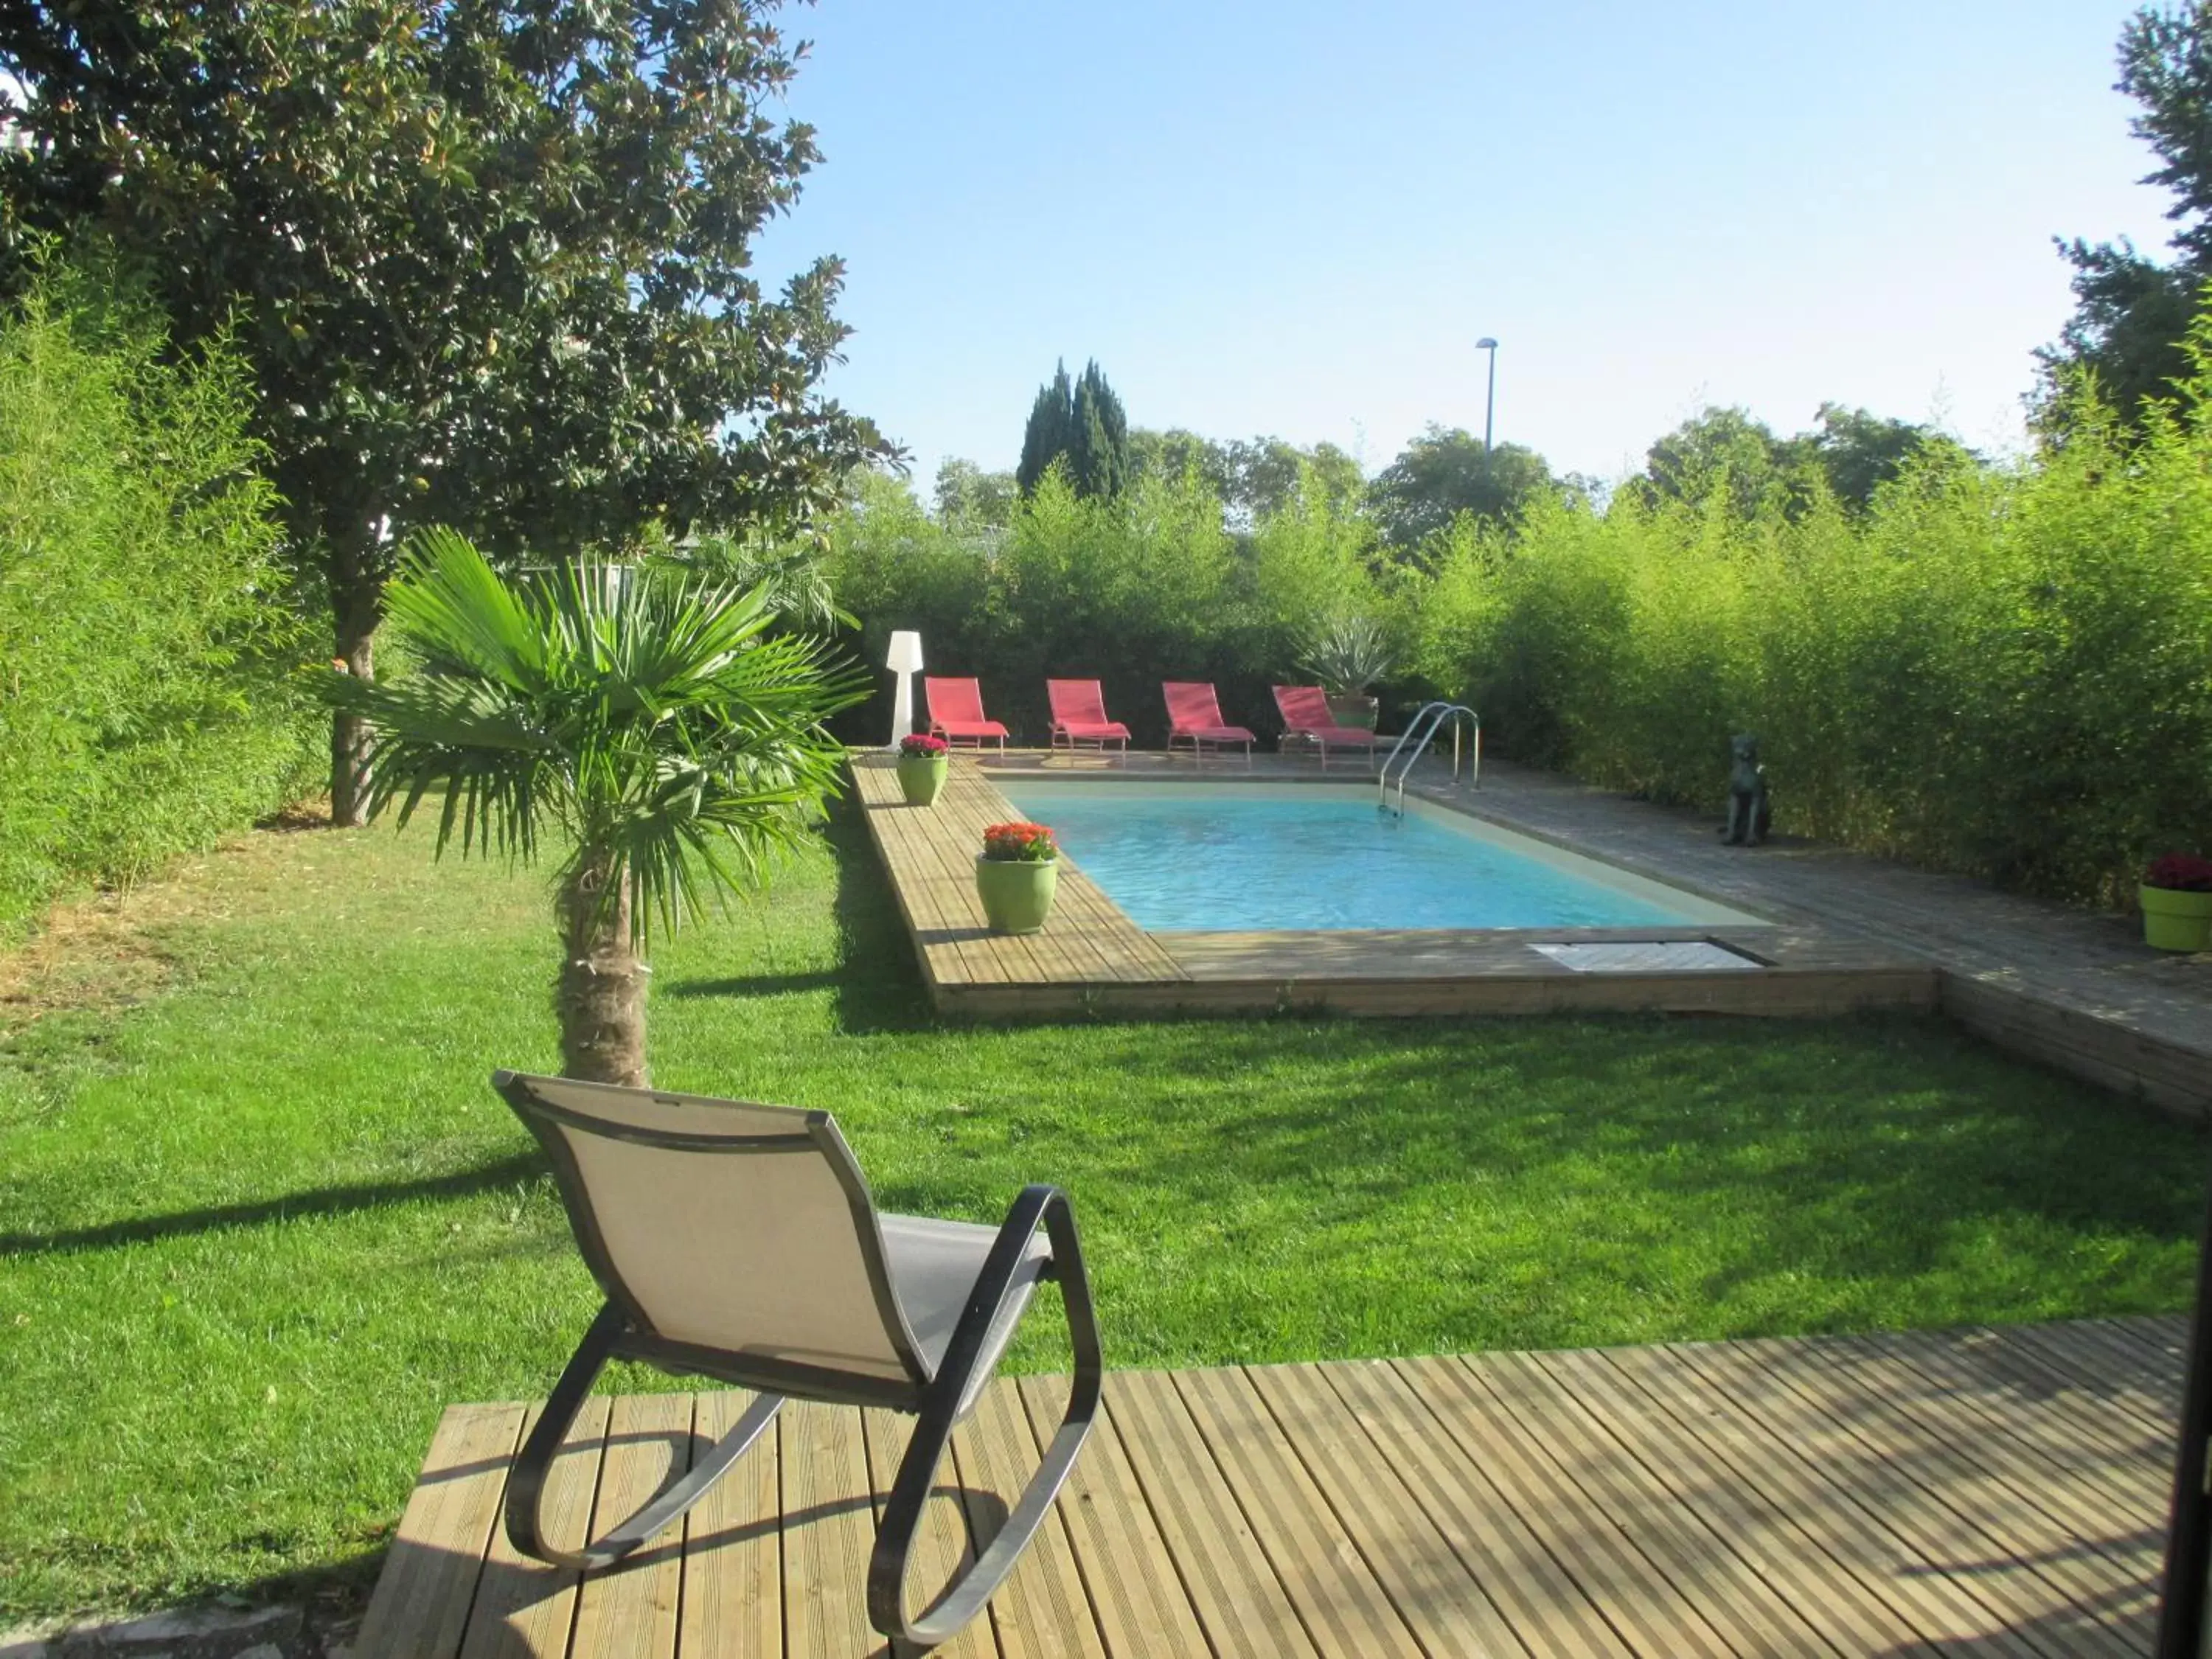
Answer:
[[765, 586], [588, 562], [507, 582], [453, 531], [414, 540], [387, 611], [420, 670], [327, 681], [374, 741], [369, 816], [438, 796], [440, 856], [533, 863], [557, 836], [562, 1068], [646, 1084], [655, 927], [812, 834], [843, 759], [823, 721], [865, 677], [770, 633]]

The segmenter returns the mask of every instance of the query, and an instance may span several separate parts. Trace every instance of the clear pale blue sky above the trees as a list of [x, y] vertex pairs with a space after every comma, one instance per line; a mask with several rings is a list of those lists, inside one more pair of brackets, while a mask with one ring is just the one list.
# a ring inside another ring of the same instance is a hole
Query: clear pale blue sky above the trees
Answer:
[[2020, 438], [2070, 310], [2053, 234], [2161, 248], [2110, 0], [823, 0], [825, 164], [763, 276], [849, 265], [830, 389], [1011, 467], [1055, 358], [1133, 425], [1422, 422], [1617, 478], [1705, 403]]

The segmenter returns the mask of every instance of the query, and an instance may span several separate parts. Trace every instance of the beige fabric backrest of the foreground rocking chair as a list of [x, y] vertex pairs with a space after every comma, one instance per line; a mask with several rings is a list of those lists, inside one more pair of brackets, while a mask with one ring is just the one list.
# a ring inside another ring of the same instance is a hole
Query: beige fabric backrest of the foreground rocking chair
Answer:
[[608, 1301], [648, 1336], [927, 1383], [867, 1179], [830, 1113], [500, 1071]]

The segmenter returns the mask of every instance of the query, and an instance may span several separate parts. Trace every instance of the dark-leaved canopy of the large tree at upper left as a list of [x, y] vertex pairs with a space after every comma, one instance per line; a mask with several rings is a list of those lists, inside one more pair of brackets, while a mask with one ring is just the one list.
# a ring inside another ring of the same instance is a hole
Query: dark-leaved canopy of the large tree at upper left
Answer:
[[[818, 159], [776, 0], [4, 7], [0, 276], [97, 230], [234, 327], [294, 553], [372, 672], [398, 540], [575, 555], [792, 524], [880, 451], [816, 380], [841, 263], [750, 241]], [[334, 794], [354, 816], [341, 719]]]

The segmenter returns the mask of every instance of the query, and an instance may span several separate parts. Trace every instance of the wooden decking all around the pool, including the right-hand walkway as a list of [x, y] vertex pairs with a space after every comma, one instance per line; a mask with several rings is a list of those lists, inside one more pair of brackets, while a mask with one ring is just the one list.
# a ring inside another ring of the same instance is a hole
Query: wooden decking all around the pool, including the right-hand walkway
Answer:
[[[980, 830], [1013, 807], [993, 779], [1115, 781], [1192, 776], [1188, 759], [1071, 765], [1040, 750], [1004, 761], [960, 757], [931, 812], [898, 801], [880, 754], [856, 757], [869, 832], [898, 889], [929, 995], [945, 1013], [1066, 1018], [1146, 1011], [1546, 1013], [1840, 1013], [1942, 1009], [1969, 1031], [2059, 1071], [2185, 1115], [2212, 1115], [2212, 953], [2168, 956], [2135, 922], [2000, 894], [1818, 843], [1723, 847], [1710, 814], [1655, 807], [1571, 779], [1484, 763], [1478, 790], [1425, 768], [1416, 794], [1637, 876], [1763, 916], [1770, 927], [1646, 929], [1710, 938], [1761, 958], [1759, 973], [1573, 973], [1531, 951], [1568, 931], [1146, 933], [1079, 869], [1062, 874], [1053, 922], [1031, 940], [993, 936], [969, 865]], [[1250, 770], [1208, 765], [1208, 781], [1325, 779], [1305, 757]], [[1608, 929], [1604, 938], [1635, 938]]]

